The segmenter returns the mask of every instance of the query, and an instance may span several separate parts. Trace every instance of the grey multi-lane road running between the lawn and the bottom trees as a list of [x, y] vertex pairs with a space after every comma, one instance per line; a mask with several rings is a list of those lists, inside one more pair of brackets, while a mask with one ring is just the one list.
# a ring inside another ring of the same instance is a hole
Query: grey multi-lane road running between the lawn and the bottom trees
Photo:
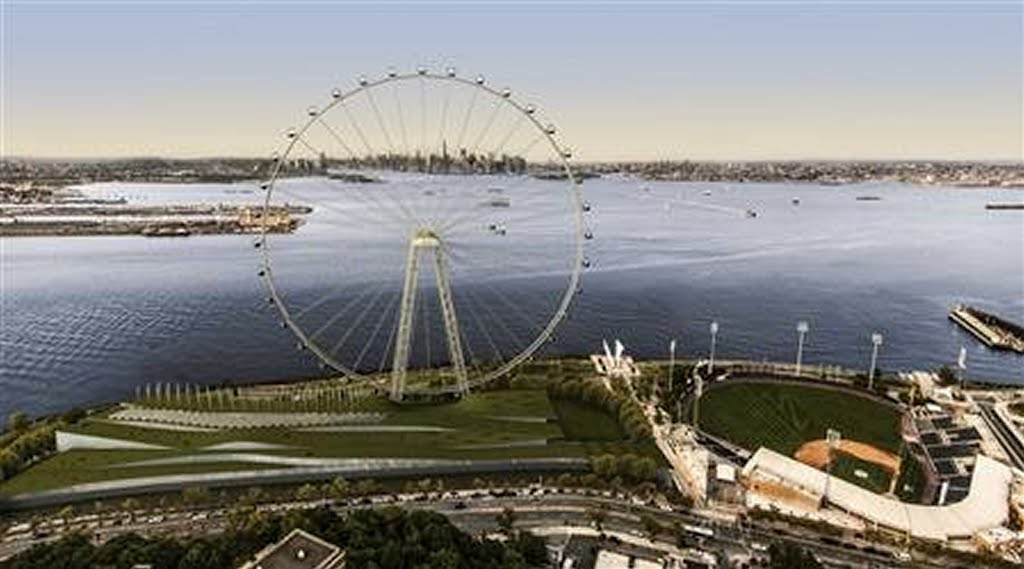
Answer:
[[[546, 493], [547, 492], [547, 493]], [[505, 494], [505, 495], [493, 495]], [[711, 537], [690, 534], [688, 545], [724, 557], [749, 556], [752, 543], [768, 544], [776, 540], [786, 540], [807, 548], [830, 567], [898, 567], [901, 563], [894, 553], [867, 541], [850, 541], [840, 544], [822, 541], [819, 536], [801, 531], [795, 533], [766, 524], [744, 525], [730, 522], [710, 512], [668, 510], [665, 507], [648, 507], [635, 500], [609, 495], [586, 495], [583, 493], [560, 493], [553, 489], [517, 488], [504, 491], [461, 490], [443, 494], [398, 494], [380, 495], [370, 498], [353, 498], [330, 502], [339, 512], [360, 508], [395, 505], [406, 509], [432, 510], [447, 516], [453, 523], [473, 534], [497, 530], [496, 516], [504, 508], [516, 512], [516, 525], [546, 536], [569, 534], [593, 534], [589, 511], [606, 511], [603, 530], [614, 541], [636, 541], [646, 543], [650, 550], [674, 552], [676, 535], [667, 532], [653, 541], [643, 533], [641, 516], [655, 518], [663, 525], [674, 524], [700, 526], [711, 529]], [[260, 510], [273, 512], [290, 509], [314, 508], [322, 501], [282, 502], [263, 505]], [[7, 535], [0, 542], [0, 560], [7, 559], [32, 544], [56, 539], [67, 531], [86, 531], [97, 541], [104, 541], [117, 535], [137, 532], [143, 535], [176, 534], [195, 535], [223, 531], [227, 525], [227, 513], [221, 509], [191, 510], [179, 512], [136, 512], [110, 513], [83, 516], [65, 524], [42, 525], [43, 533]], [[37, 527], [40, 527], [37, 525]], [[948, 560], [941, 558], [919, 559], [915, 567], [949, 567]]]

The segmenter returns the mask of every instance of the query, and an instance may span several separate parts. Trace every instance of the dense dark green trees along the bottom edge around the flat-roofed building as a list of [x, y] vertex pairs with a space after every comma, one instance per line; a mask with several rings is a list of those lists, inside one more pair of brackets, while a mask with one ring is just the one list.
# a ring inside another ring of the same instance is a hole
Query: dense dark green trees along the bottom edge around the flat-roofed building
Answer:
[[529, 569], [547, 566], [544, 541], [509, 531], [506, 542], [473, 537], [444, 516], [396, 508], [338, 514], [327, 508], [274, 515], [245, 509], [221, 534], [185, 538], [125, 534], [96, 545], [73, 534], [40, 544], [0, 567], [9, 569], [230, 569], [292, 529], [345, 550], [350, 569]]

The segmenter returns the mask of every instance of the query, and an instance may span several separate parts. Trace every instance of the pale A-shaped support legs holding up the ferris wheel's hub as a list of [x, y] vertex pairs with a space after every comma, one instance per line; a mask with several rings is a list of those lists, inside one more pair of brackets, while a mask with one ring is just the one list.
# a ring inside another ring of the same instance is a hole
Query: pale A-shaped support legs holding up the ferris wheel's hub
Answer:
[[452, 301], [447, 267], [444, 263], [444, 245], [440, 236], [429, 227], [413, 231], [409, 239], [409, 254], [406, 257], [406, 279], [401, 290], [401, 308], [398, 312], [398, 336], [395, 340], [394, 359], [391, 367], [391, 399], [401, 401], [406, 389], [409, 369], [409, 354], [413, 334], [413, 315], [416, 313], [417, 289], [420, 284], [420, 255], [433, 255], [434, 276], [437, 279], [437, 297], [440, 300], [441, 318], [447, 337], [449, 358], [455, 373], [459, 393], [469, 390], [466, 375], [466, 359], [462, 355], [462, 341], [459, 336], [459, 320]]

